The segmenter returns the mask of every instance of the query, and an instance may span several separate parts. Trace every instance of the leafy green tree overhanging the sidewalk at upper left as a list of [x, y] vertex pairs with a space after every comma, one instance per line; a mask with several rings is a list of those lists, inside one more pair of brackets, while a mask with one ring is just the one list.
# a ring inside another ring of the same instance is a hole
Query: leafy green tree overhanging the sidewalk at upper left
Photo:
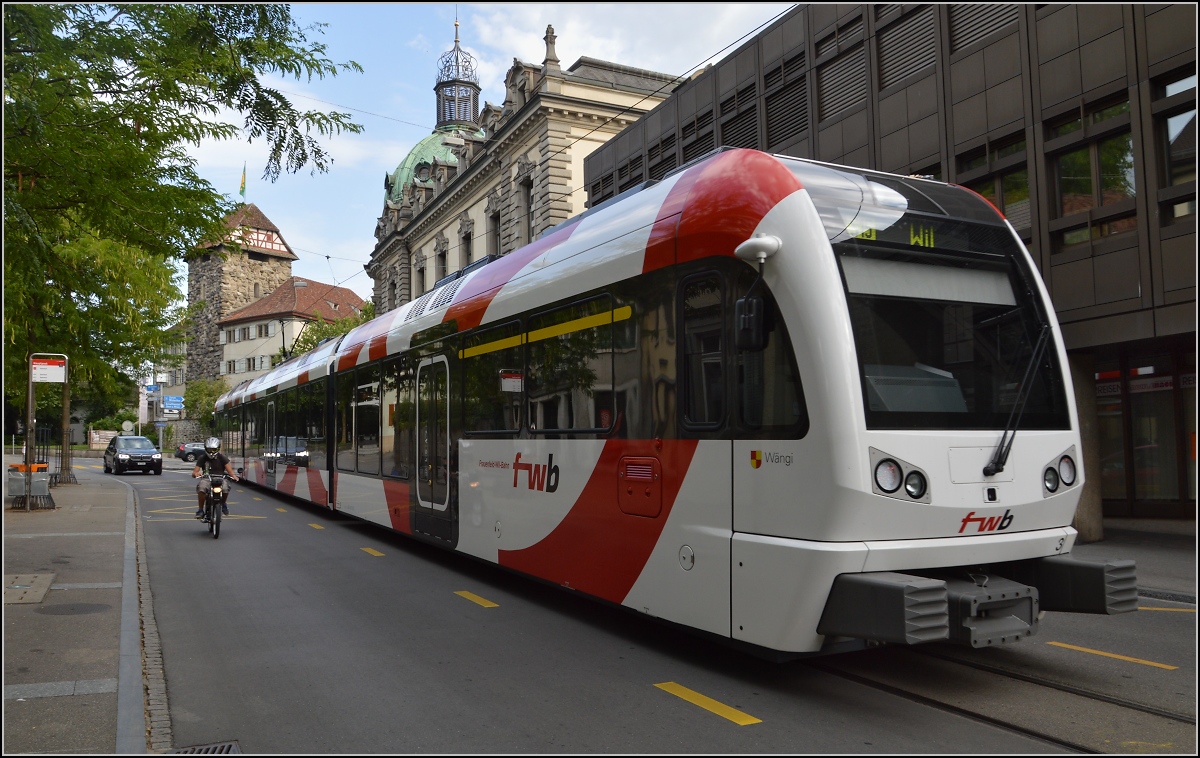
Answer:
[[[223, 235], [234, 204], [186, 148], [268, 145], [275, 180], [331, 158], [349, 114], [300, 112], [265, 76], [334, 64], [284, 5], [5, 5], [5, 393], [23, 407], [31, 353], [66, 353], [71, 381], [115, 387], [184, 314], [172, 261]], [[234, 114], [240, 124], [224, 118]], [[41, 395], [41, 393], [40, 393]]]

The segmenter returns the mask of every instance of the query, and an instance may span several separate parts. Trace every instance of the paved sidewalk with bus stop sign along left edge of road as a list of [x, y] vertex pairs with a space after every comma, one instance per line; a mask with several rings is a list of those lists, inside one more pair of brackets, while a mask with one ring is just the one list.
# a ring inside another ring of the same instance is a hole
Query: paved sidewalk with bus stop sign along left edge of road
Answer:
[[[7, 476], [19, 456], [4, 458]], [[5, 499], [5, 754], [170, 747], [133, 489], [92, 463], [50, 489], [53, 510]]]

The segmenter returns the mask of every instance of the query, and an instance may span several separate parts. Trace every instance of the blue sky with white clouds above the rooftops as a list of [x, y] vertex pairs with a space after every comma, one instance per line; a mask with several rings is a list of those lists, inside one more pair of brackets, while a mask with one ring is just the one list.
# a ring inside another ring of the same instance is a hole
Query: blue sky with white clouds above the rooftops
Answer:
[[[685, 76], [715, 62], [761, 31], [792, 4], [298, 4], [301, 26], [326, 24], [310, 38], [335, 64], [355, 61], [362, 73], [313, 82], [268, 79], [298, 109], [349, 113], [359, 134], [322, 142], [332, 156], [324, 174], [301, 170], [263, 179], [262, 142], [205, 142], [192, 150], [200, 176], [218, 192], [256, 204], [280, 228], [299, 260], [294, 276], [336, 283], [371, 297], [362, 266], [374, 249], [383, 211], [384, 174], [433, 131], [438, 58], [454, 47], [475, 56], [485, 101], [504, 102], [504, 74], [514, 58], [540, 65], [546, 25], [566, 68], [581, 56]], [[186, 281], [186, 279], [185, 279]]]

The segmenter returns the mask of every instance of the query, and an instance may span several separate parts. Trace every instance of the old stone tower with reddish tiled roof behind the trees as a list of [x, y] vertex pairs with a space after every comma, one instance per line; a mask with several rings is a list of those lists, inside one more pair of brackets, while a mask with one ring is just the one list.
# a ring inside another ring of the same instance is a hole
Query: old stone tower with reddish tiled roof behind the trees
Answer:
[[187, 264], [187, 305], [194, 312], [187, 342], [187, 380], [216, 379], [221, 371], [217, 321], [271, 294], [292, 278], [295, 253], [253, 203], [226, 218], [227, 241], [197, 251]]

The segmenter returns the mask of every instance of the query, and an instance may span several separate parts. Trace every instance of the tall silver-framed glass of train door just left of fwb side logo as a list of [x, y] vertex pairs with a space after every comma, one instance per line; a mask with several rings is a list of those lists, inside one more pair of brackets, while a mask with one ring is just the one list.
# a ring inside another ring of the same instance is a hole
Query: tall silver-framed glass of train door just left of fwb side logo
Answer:
[[416, 368], [416, 504], [445, 513], [450, 504], [450, 368], [445, 356]]

